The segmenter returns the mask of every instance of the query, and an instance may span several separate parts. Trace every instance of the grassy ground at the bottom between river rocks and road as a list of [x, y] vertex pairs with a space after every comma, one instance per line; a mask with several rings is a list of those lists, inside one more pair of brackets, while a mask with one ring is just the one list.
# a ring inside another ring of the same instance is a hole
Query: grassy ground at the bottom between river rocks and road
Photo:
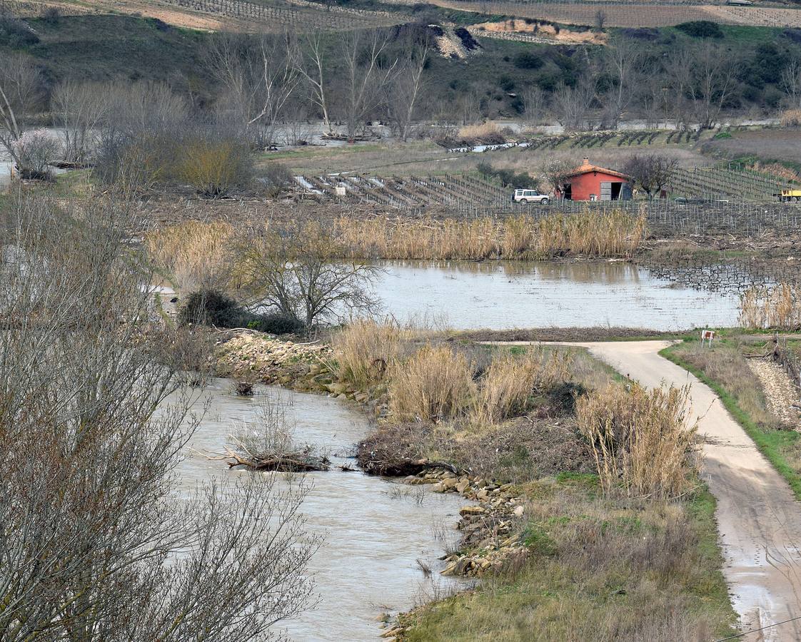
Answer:
[[406, 616], [408, 642], [710, 640], [734, 631], [714, 498], [603, 500], [594, 475], [525, 487], [529, 557]]

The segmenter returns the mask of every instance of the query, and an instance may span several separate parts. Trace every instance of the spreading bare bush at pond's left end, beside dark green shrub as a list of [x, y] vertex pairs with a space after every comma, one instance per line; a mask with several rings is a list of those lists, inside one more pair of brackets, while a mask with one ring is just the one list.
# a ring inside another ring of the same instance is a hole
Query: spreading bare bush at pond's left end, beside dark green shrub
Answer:
[[376, 309], [370, 286], [380, 268], [343, 259], [343, 248], [320, 224], [251, 231], [236, 253], [235, 285], [247, 303], [297, 319], [307, 331]]

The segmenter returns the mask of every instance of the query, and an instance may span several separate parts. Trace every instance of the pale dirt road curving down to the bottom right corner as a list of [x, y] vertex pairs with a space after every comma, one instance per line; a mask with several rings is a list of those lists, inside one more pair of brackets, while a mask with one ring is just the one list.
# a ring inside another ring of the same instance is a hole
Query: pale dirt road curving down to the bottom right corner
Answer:
[[[525, 343], [525, 342], [520, 342]], [[690, 383], [703, 477], [718, 500], [723, 574], [742, 630], [801, 616], [801, 504], [710, 387], [658, 355], [666, 341], [570, 343], [646, 387]], [[740, 640], [801, 640], [801, 620]]]

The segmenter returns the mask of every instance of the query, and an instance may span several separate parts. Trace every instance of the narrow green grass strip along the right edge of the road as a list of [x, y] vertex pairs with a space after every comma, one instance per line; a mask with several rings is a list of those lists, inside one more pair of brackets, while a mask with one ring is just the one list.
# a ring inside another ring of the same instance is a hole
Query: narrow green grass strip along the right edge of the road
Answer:
[[714, 379], [710, 379], [706, 373], [699, 370], [693, 364], [687, 363], [680, 356], [674, 354], [674, 350], [678, 345], [681, 344], [669, 346], [660, 350], [659, 355], [698, 377], [702, 383], [705, 383], [714, 391], [715, 395], [718, 395], [718, 399], [723, 403], [723, 407], [725, 407], [727, 411], [729, 411], [729, 414], [735, 418], [735, 421], [743, 427], [743, 430], [751, 437], [756, 447], [759, 448], [759, 451], [771, 462], [771, 465], [776, 469], [779, 475], [787, 479], [787, 484], [790, 484], [795, 499], [801, 500], [801, 475], [787, 463], [787, 459], [784, 458], [781, 451], [783, 444], [791, 443], [795, 439], [798, 439], [798, 433], [795, 431], [765, 431], [757, 426], [754, 420], [751, 419], [751, 416], [739, 407], [735, 397], [732, 396], [726, 388], [714, 381]]

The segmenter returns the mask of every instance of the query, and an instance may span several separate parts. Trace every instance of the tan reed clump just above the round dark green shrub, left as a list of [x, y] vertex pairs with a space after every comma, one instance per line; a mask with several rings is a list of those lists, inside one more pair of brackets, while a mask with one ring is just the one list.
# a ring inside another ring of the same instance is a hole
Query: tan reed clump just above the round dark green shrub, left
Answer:
[[145, 242], [155, 264], [189, 292], [223, 285], [232, 235], [228, 223], [188, 221], [153, 231]]

